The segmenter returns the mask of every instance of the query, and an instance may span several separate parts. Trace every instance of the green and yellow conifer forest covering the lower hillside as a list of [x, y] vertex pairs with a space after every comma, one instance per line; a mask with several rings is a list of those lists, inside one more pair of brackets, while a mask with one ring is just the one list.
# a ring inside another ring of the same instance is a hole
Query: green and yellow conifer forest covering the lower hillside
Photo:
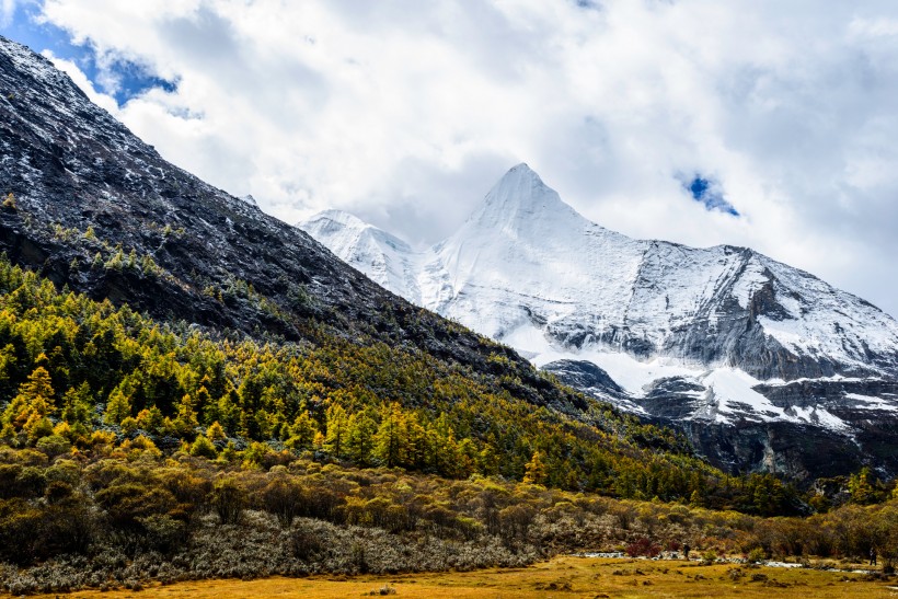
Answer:
[[579, 419], [522, 399], [522, 373], [502, 355], [491, 358], [492, 376], [324, 327], [310, 339], [161, 324], [2, 260], [0, 440], [84, 450], [110, 433], [165, 450], [186, 444], [211, 459], [264, 442], [453, 479], [498, 475], [761, 515], [802, 509], [776, 477], [727, 476], [669, 429], [573, 390], [563, 393], [586, 406]]

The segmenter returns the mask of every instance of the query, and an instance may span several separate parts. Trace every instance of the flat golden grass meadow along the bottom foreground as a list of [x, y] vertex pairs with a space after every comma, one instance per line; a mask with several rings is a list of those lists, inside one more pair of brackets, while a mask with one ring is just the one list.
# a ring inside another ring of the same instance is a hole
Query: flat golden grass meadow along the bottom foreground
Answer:
[[[811, 569], [748, 568], [733, 564], [701, 565], [681, 561], [556, 557], [527, 568], [393, 576], [273, 577], [260, 580], [205, 580], [152, 586], [141, 591], [80, 591], [67, 599], [229, 599], [275, 597], [323, 599], [361, 597], [384, 585], [402, 598], [660, 598], [745, 597], [826, 599], [898, 597], [898, 583], [863, 574]], [[891, 588], [889, 588], [893, 586]], [[59, 597], [44, 595], [38, 597]]]

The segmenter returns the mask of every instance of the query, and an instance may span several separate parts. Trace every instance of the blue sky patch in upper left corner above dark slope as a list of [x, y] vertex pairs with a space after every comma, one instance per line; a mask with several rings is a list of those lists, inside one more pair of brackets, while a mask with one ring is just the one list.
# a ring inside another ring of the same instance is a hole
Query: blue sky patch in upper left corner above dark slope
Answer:
[[71, 60], [97, 91], [115, 97], [119, 106], [152, 88], [161, 88], [166, 92], [176, 89], [176, 82], [157, 77], [147, 67], [136, 62], [117, 59], [101, 67], [96, 50], [91, 44], [72, 44], [69, 32], [41, 23], [37, 19], [41, 7], [36, 3], [18, 7], [12, 19], [2, 24], [1, 33], [36, 53], [50, 50], [57, 58]]

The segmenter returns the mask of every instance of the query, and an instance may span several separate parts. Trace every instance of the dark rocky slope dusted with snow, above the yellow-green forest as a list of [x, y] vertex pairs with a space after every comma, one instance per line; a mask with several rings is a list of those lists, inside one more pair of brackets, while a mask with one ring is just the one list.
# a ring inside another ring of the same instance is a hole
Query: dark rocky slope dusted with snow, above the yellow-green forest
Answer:
[[308, 343], [326, 330], [484, 376], [502, 356], [520, 369], [528, 401], [583, 407], [510, 349], [384, 290], [251, 198], [168, 163], [51, 62], [3, 37], [0, 91], [0, 251], [14, 264], [226, 334]]

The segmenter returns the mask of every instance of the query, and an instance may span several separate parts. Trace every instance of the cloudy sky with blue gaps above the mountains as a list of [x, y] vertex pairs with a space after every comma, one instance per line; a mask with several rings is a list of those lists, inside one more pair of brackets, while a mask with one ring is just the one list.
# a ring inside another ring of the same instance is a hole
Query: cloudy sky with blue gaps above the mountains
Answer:
[[290, 223], [434, 243], [526, 162], [603, 227], [898, 315], [893, 0], [0, 0], [0, 33]]

